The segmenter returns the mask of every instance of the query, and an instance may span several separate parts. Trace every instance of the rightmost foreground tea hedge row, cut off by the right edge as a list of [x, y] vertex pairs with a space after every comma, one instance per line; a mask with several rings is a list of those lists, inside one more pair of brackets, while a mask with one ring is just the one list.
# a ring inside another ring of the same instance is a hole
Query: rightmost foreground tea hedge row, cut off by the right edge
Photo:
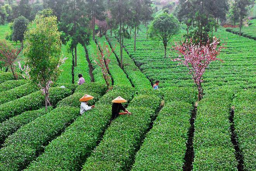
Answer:
[[[235, 133], [244, 159], [244, 170], [256, 169], [256, 94], [255, 88], [239, 92], [233, 104]], [[254, 149], [254, 150], [253, 150]]]

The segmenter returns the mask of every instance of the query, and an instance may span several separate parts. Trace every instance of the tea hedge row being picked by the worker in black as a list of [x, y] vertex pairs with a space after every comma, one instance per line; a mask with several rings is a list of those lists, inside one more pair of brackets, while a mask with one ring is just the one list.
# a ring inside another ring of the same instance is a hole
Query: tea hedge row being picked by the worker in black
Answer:
[[130, 106], [128, 110], [132, 112], [130, 116], [119, 116], [112, 121], [83, 170], [127, 170], [131, 166], [154, 111]]

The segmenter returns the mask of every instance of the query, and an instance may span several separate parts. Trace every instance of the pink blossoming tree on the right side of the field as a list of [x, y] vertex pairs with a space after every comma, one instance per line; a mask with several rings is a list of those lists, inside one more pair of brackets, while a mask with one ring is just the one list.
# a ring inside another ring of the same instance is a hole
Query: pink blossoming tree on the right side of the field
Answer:
[[222, 61], [217, 58], [217, 56], [220, 54], [223, 46], [224, 44], [220, 46], [220, 40], [216, 37], [213, 37], [211, 43], [208, 40], [206, 45], [195, 45], [192, 43], [192, 40], [187, 40], [182, 45], [176, 43], [175, 50], [178, 50], [181, 55], [178, 58], [173, 59], [173, 61], [178, 61], [179, 64], [186, 66], [189, 70], [189, 74], [192, 75], [192, 78], [197, 85], [198, 100], [201, 100], [203, 97], [202, 76], [212, 61]]

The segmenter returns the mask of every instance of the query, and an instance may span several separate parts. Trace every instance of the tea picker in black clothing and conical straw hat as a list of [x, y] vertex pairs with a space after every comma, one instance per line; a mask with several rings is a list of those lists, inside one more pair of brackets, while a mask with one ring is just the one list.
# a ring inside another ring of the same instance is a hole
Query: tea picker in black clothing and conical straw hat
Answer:
[[[126, 110], [125, 107], [123, 107], [123, 105], [121, 104], [121, 103], [127, 102], [122, 97], [119, 96], [119, 97], [115, 98], [114, 100], [112, 100], [112, 102], [113, 102], [113, 104], [112, 104], [112, 119], [115, 119], [119, 115], [131, 114], [131, 112]], [[124, 112], [120, 112], [121, 110]]]

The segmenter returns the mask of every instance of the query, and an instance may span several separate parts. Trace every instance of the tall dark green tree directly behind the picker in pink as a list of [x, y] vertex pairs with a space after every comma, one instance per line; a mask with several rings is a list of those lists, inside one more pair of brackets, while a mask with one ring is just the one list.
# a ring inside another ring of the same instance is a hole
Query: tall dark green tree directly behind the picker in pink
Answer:
[[77, 66], [78, 43], [86, 45], [89, 43], [90, 31], [89, 20], [83, 0], [69, 0], [64, 7], [59, 28], [65, 34], [66, 41], [71, 40], [71, 51], [75, 52], [75, 66]]

